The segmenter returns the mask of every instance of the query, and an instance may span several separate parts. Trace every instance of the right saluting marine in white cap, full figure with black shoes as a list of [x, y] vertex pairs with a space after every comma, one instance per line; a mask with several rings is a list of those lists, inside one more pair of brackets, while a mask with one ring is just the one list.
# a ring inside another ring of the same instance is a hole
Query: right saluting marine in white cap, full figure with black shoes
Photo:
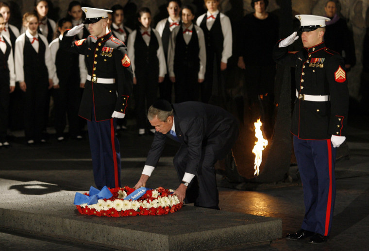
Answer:
[[296, 67], [296, 101], [291, 133], [305, 203], [302, 227], [287, 239], [328, 239], [335, 205], [335, 152], [345, 141], [349, 92], [343, 58], [323, 42], [327, 17], [297, 15], [304, 48], [288, 52], [297, 33], [277, 43], [273, 57]]

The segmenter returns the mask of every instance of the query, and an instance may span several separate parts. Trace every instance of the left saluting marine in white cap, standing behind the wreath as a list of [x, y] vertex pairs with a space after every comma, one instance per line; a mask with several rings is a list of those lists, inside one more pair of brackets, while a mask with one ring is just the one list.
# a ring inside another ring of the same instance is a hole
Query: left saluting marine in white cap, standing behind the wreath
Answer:
[[73, 41], [84, 24], [63, 36], [61, 47], [85, 56], [87, 80], [79, 116], [87, 119], [96, 186], [120, 187], [116, 118], [125, 116], [133, 73], [127, 48], [107, 28], [109, 10], [82, 7], [91, 36]]

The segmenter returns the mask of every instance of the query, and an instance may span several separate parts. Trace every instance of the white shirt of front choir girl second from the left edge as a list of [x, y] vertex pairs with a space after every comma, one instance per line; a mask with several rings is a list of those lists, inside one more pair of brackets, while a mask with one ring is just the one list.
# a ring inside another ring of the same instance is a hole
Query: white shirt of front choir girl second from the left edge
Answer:
[[[31, 35], [31, 33], [28, 30], [25, 33], [18, 36], [18, 38], [16, 40], [15, 65], [16, 65], [16, 80], [18, 82], [24, 82], [23, 50], [24, 50], [24, 42], [25, 42], [25, 37], [26, 36], [30, 39], [31, 42], [34, 40], [33, 39], [34, 36]], [[54, 64], [54, 62], [52, 60], [52, 57], [51, 57], [51, 52], [50, 52], [48, 40], [46, 39], [46, 37], [44, 35], [41, 35], [41, 34], [38, 34], [38, 33], [36, 33], [35, 38], [42, 39], [42, 42], [45, 44], [45, 65], [48, 68], [49, 79], [54, 79], [55, 64]], [[34, 50], [37, 53], [38, 53], [38, 46], [39, 46], [39, 42], [37, 40], [34, 40], [34, 43], [32, 44], [32, 47], [34, 48]], [[54, 85], [56, 85], [56, 84], [59, 84], [59, 82], [54, 83]]]

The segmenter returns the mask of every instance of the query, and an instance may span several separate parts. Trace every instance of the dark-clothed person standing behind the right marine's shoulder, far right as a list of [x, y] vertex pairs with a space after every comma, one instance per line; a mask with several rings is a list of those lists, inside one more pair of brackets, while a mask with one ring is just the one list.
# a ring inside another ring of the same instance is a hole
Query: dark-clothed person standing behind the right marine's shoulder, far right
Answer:
[[355, 45], [346, 20], [337, 14], [337, 4], [338, 1], [336, 0], [329, 0], [325, 4], [326, 17], [331, 20], [326, 23], [324, 42], [329, 49], [342, 55], [346, 70], [349, 71], [356, 64]]

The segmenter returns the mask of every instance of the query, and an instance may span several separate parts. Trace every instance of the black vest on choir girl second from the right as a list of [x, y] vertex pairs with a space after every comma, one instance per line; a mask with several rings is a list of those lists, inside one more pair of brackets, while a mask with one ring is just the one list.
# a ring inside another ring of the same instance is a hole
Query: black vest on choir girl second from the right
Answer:
[[196, 33], [195, 25], [192, 27], [192, 35], [188, 45], [183, 37], [183, 29], [181, 26], [176, 37], [174, 71], [178, 71], [183, 67], [187, 67], [195, 72], [198, 72], [200, 69], [199, 51], [199, 38]]

